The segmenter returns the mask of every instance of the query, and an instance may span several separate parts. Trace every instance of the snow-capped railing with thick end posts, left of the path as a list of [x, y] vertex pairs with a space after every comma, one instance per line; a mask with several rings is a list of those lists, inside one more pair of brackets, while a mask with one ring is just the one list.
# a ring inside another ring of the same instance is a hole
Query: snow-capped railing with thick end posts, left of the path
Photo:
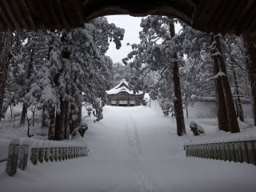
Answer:
[[86, 156], [88, 156], [88, 149], [83, 143], [18, 138], [10, 142], [6, 173], [13, 176], [17, 167], [25, 170], [29, 158], [33, 165], [37, 165], [38, 162], [57, 162]]

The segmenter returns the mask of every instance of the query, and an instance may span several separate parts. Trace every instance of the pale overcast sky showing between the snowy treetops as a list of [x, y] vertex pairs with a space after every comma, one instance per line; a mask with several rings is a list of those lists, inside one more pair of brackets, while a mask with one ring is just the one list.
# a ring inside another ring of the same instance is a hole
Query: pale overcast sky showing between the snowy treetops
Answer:
[[[142, 18], [135, 18], [129, 15], [113, 15], [106, 17], [109, 23], [114, 23], [116, 26], [126, 30], [125, 36], [122, 41], [122, 47], [116, 50], [114, 42], [110, 43], [110, 48], [106, 54], [112, 58], [113, 62], [121, 62], [122, 58], [126, 58], [127, 54], [130, 53], [131, 46], [127, 46], [127, 42], [139, 43], [138, 32], [142, 30], [140, 27]], [[175, 25], [175, 30], [179, 30], [180, 25]]]

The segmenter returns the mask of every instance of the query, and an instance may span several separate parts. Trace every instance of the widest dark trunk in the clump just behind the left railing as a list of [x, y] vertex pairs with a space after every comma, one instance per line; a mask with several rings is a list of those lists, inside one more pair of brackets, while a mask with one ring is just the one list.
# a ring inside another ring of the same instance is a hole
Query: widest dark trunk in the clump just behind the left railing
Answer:
[[65, 102], [60, 98], [60, 113], [56, 114], [56, 124], [55, 124], [55, 140], [61, 141], [64, 139], [65, 130]]

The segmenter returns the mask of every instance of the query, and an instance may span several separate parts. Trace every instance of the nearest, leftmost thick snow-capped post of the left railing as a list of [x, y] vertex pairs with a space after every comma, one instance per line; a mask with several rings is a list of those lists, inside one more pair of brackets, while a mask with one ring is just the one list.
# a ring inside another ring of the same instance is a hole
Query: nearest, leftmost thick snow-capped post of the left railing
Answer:
[[14, 176], [17, 171], [19, 145], [19, 138], [13, 139], [9, 144], [8, 159], [6, 163], [6, 173], [9, 176]]

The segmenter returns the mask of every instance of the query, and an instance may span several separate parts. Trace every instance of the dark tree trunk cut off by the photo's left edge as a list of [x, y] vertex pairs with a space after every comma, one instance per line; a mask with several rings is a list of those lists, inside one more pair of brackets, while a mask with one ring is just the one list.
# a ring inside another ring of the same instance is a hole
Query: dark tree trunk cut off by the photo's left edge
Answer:
[[[1, 33], [1, 32], [0, 32]], [[2, 104], [5, 96], [6, 78], [8, 74], [8, 66], [10, 64], [10, 50], [12, 44], [12, 34], [6, 32], [0, 34], [0, 120], [2, 117]], [[2, 44], [2, 45], [1, 45]]]

